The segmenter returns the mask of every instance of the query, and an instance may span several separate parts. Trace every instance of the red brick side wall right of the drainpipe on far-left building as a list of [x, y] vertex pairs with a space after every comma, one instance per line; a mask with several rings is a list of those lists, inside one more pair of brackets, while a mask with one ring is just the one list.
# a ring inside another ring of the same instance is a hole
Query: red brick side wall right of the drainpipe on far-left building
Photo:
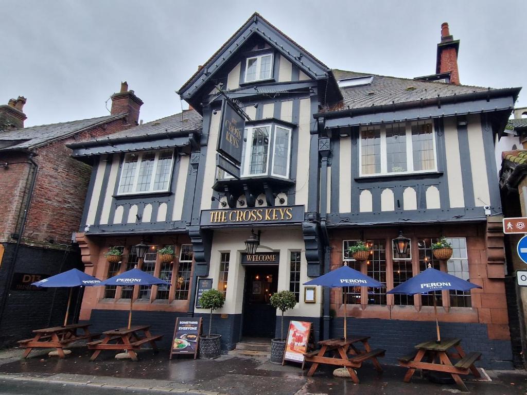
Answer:
[[[24, 232], [26, 242], [70, 244], [72, 232], [79, 229], [81, 222], [91, 166], [73, 159], [72, 151], [65, 145], [118, 132], [123, 129], [123, 120], [104, 126], [36, 150], [38, 175]], [[50, 239], [53, 243], [48, 242]]]

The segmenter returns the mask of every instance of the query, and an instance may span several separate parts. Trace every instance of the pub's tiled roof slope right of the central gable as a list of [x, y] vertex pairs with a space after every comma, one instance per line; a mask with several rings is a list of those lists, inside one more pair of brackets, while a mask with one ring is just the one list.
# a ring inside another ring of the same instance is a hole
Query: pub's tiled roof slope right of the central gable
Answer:
[[434, 81], [418, 81], [409, 78], [390, 77], [385, 75], [358, 73], [334, 69], [337, 81], [345, 78], [373, 76], [371, 84], [362, 86], [341, 87], [344, 99], [325, 111], [347, 110], [379, 105], [419, 101], [453, 95], [469, 94], [494, 90], [481, 86], [445, 84]]

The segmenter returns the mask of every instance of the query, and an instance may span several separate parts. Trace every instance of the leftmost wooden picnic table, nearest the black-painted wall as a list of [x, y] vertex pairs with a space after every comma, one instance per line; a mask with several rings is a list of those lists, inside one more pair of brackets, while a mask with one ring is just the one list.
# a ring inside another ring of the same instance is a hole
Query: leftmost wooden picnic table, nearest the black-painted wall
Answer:
[[[20, 348], [25, 348], [23, 358], [27, 358], [34, 348], [55, 348], [59, 358], [65, 358], [64, 347], [77, 340], [87, 339], [92, 341], [99, 338], [100, 334], [90, 333], [90, 324], [72, 324], [62, 327], [36, 329], [33, 331], [35, 336], [31, 339], [18, 341]], [[77, 333], [82, 329], [83, 333]]]

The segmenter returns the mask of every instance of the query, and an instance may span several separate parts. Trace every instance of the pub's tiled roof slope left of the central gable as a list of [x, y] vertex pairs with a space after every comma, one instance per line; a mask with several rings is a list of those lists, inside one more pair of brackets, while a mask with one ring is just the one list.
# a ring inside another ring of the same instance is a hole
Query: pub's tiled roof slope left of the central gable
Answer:
[[123, 139], [126, 137], [155, 136], [165, 135], [167, 133], [201, 130], [202, 119], [203, 118], [201, 115], [195, 110], [183, 110], [181, 113], [144, 123], [139, 126], [134, 126], [130, 129], [126, 129], [109, 136], [94, 139], [91, 142], [107, 142]]

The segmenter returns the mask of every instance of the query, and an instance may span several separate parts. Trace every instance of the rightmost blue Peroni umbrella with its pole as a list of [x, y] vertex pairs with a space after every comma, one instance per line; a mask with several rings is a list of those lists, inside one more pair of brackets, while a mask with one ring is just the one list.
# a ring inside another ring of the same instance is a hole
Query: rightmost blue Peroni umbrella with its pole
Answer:
[[[480, 285], [460, 279], [455, 275], [436, 270], [432, 268], [430, 263], [428, 263], [428, 269], [417, 274], [415, 277], [412, 277], [404, 283], [397, 285], [397, 287], [388, 291], [387, 293], [405, 293], [407, 295], [415, 295], [416, 293], [428, 293], [442, 290], [469, 291], [473, 288], [482, 287], [480, 287]], [[437, 341], [439, 342], [441, 341], [441, 335], [439, 333], [439, 322], [437, 321], [437, 305], [435, 302], [435, 295], [432, 299], [434, 300], [435, 325], [437, 330]]]

